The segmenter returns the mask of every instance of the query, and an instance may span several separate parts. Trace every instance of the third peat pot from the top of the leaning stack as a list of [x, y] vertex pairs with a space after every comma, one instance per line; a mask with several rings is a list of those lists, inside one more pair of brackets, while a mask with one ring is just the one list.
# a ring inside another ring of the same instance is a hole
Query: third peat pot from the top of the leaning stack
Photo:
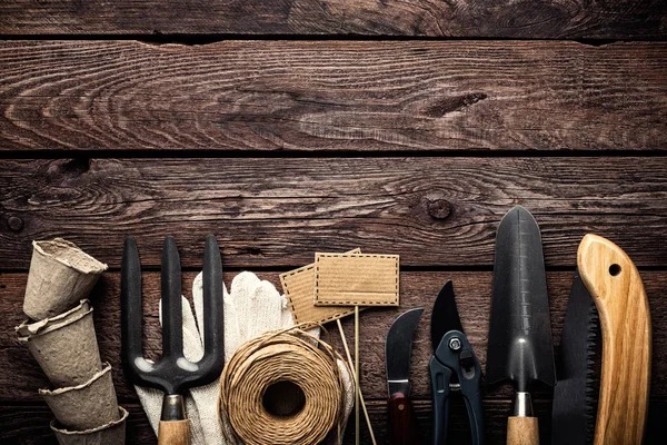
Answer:
[[91, 429], [119, 418], [109, 364], [104, 364], [104, 368], [83, 385], [54, 390], [40, 389], [39, 394], [58, 423], [70, 429]]

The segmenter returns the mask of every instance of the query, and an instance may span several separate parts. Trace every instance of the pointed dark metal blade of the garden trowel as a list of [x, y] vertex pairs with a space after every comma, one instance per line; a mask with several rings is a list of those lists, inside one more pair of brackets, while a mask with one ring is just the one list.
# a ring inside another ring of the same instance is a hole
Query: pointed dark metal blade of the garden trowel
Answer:
[[534, 380], [556, 383], [551, 320], [541, 236], [535, 218], [517, 206], [496, 237], [487, 382], [515, 382], [527, 393]]

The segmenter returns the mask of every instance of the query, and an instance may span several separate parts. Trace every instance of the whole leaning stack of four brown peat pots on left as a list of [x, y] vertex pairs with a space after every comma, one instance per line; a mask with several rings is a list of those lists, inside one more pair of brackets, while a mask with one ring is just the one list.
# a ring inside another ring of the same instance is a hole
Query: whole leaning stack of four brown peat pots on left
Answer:
[[32, 246], [23, 301], [30, 320], [16, 329], [53, 386], [39, 390], [56, 416], [51, 429], [61, 445], [123, 444], [128, 412], [100, 359], [86, 299], [107, 265], [64, 239]]

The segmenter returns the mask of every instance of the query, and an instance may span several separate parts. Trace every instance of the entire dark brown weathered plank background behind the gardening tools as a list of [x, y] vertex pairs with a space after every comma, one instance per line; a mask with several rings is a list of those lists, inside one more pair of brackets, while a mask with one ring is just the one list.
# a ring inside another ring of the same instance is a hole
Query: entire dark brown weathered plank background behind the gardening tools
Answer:
[[[156, 444], [119, 363], [122, 240], [148, 266], [155, 356], [162, 238], [177, 236], [188, 293], [208, 233], [227, 281], [250, 269], [278, 285], [316, 250], [400, 254], [400, 310], [426, 307], [412, 379], [427, 437], [430, 306], [454, 279], [484, 366], [495, 230], [516, 204], [542, 229], [556, 344], [586, 233], [638, 265], [654, 326], [646, 442], [663, 443], [666, 37], [664, 0], [1, 0], [0, 443], [54, 443], [48, 383], [13, 334], [30, 241], [64, 237], [109, 264], [92, 296], [101, 353], [128, 443]], [[381, 443], [397, 314], [362, 314]], [[485, 396], [491, 444], [510, 395]], [[550, 394], [535, 398], [548, 443]], [[460, 403], [451, 423], [467, 443]]]

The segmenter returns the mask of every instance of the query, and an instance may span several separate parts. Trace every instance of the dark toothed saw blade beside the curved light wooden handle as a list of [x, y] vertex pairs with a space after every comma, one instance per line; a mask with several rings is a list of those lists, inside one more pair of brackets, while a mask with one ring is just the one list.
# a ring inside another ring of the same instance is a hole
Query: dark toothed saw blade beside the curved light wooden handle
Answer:
[[558, 355], [558, 384], [554, 388], [551, 443], [593, 443], [595, 395], [593, 360], [596, 353], [598, 316], [595, 303], [575, 273]]

